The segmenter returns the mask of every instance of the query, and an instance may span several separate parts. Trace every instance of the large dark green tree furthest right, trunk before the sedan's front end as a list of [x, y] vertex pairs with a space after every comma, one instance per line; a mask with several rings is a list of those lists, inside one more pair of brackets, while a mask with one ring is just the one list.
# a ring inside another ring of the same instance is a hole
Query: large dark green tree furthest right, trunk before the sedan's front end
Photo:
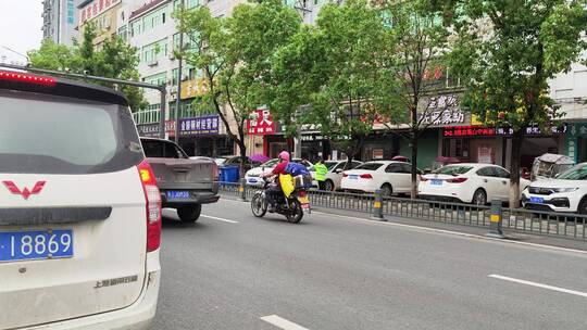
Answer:
[[547, 129], [557, 113], [548, 79], [586, 48], [586, 2], [567, 0], [438, 1], [457, 36], [451, 66], [465, 85], [463, 103], [486, 125], [513, 129], [510, 205], [520, 203], [520, 154], [526, 128]]

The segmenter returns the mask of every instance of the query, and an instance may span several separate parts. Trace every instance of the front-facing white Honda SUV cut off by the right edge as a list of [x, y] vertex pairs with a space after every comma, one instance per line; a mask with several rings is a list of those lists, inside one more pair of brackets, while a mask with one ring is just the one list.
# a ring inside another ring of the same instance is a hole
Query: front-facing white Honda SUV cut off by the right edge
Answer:
[[525, 208], [587, 214], [587, 163], [577, 164], [555, 179], [532, 182], [522, 192]]

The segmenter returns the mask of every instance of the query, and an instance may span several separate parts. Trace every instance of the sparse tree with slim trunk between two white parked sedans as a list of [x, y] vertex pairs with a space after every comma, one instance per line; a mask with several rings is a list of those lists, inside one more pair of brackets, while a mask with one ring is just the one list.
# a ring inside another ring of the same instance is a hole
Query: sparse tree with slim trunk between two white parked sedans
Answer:
[[379, 111], [390, 131], [410, 143], [414, 199], [420, 138], [457, 105], [455, 98], [445, 96], [450, 91], [440, 77], [447, 66], [448, 30], [425, 0], [383, 0], [376, 7], [386, 18], [387, 52], [382, 62], [391, 80], [382, 87], [386, 98]]

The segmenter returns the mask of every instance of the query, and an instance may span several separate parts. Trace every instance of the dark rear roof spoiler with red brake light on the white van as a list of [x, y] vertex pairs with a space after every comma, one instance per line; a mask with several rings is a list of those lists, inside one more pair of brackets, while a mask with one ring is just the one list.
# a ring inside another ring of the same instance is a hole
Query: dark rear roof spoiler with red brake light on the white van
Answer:
[[[45, 78], [50, 82], [39, 84], [35, 81], [35, 78]], [[124, 94], [112, 88], [49, 75], [8, 71], [3, 69], [1, 65], [0, 89], [45, 93], [128, 106], [128, 101]]]

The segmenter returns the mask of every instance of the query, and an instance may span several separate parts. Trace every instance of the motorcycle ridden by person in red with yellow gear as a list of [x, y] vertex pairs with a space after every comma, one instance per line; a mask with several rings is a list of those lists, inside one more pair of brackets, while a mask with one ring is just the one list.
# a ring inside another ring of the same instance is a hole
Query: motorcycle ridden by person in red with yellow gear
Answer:
[[[271, 181], [263, 179], [263, 186], [257, 190], [251, 199], [251, 211], [258, 218], [267, 213], [267, 198], [265, 190]], [[304, 210], [310, 213], [310, 200], [304, 188], [296, 188], [289, 196], [283, 195], [276, 201], [275, 213], [284, 215], [291, 224], [298, 224], [303, 218]]]

